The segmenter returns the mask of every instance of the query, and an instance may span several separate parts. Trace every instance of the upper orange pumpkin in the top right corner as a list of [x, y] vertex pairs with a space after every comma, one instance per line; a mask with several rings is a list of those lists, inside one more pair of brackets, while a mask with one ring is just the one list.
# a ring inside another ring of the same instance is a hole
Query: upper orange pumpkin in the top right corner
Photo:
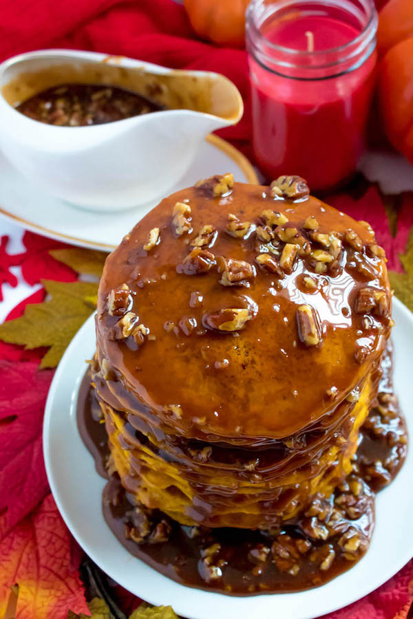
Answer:
[[389, 0], [380, 11], [377, 47], [385, 54], [390, 47], [413, 36], [412, 0]]

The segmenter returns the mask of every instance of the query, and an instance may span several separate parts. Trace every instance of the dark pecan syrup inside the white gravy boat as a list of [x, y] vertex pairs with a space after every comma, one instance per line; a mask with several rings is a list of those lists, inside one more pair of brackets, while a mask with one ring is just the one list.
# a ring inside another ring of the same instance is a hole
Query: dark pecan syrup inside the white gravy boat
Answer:
[[46, 124], [84, 127], [164, 109], [135, 92], [110, 85], [62, 84], [23, 101], [17, 111]]

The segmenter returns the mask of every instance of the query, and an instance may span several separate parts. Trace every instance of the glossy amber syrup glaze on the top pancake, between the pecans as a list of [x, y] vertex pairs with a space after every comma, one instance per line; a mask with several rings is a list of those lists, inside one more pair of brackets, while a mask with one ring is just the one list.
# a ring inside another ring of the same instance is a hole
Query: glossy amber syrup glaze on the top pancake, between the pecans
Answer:
[[[173, 224], [177, 202], [191, 208], [189, 228], [181, 235]], [[257, 235], [266, 210], [288, 218], [273, 226], [271, 250]], [[251, 223], [244, 238], [227, 232], [231, 215]], [[277, 234], [287, 228], [295, 228], [312, 251], [326, 250], [310, 238], [313, 230], [304, 229], [309, 217], [317, 220], [318, 234], [336, 232], [343, 239], [326, 272], [315, 272], [311, 255], [297, 255], [291, 270], [280, 273], [257, 263], [257, 256], [269, 251], [279, 263], [286, 243]], [[218, 266], [186, 274], [184, 260], [203, 226], [215, 230], [202, 249]], [[145, 251], [154, 228], [159, 239]], [[348, 230], [360, 241], [359, 249], [346, 241]], [[366, 225], [314, 197], [275, 199], [266, 186], [235, 183], [224, 197], [191, 187], [162, 200], [108, 257], [100, 282], [98, 361], [109, 360], [118, 376], [116, 409], [136, 413], [166, 435], [246, 445], [288, 437], [315, 422], [379, 364], [390, 334], [390, 287], [383, 257], [372, 254], [376, 247]], [[253, 276], [244, 285], [222, 285], [222, 257], [248, 263]], [[308, 276], [314, 288], [306, 286]], [[139, 348], [134, 338], [117, 339], [118, 317], [107, 309], [109, 294], [122, 285], [130, 290], [128, 310], [149, 329]], [[355, 311], [364, 287], [383, 292], [386, 301], [381, 315], [368, 312], [366, 321]], [[319, 345], [307, 347], [300, 340], [302, 304], [317, 313]], [[251, 320], [235, 332], [205, 326], [209, 314], [225, 308], [246, 309]]]

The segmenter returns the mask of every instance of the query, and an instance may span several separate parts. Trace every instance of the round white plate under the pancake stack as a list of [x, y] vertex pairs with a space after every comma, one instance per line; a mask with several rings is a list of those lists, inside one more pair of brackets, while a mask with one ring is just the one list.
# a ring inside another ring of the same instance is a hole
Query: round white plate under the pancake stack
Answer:
[[[413, 314], [394, 299], [396, 393], [413, 436]], [[106, 481], [83, 445], [76, 426], [78, 387], [94, 354], [94, 317], [68, 347], [54, 376], [45, 409], [43, 450], [47, 477], [68, 528], [85, 552], [120, 585], [154, 605], [171, 605], [188, 619], [313, 619], [373, 591], [413, 555], [413, 450], [401, 473], [377, 497], [377, 521], [367, 554], [345, 574], [318, 589], [237, 598], [178, 585], [131, 556], [103, 520]]]

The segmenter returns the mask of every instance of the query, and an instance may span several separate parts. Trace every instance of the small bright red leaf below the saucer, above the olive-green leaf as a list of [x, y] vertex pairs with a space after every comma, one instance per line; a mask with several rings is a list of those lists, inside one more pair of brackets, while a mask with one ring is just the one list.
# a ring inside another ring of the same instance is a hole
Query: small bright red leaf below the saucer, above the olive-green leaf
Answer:
[[66, 243], [39, 237], [26, 231], [23, 235], [23, 245], [26, 248], [21, 254], [21, 274], [28, 284], [34, 285], [41, 279], [54, 281], [75, 281], [76, 272], [50, 255], [50, 250], [70, 247]]

